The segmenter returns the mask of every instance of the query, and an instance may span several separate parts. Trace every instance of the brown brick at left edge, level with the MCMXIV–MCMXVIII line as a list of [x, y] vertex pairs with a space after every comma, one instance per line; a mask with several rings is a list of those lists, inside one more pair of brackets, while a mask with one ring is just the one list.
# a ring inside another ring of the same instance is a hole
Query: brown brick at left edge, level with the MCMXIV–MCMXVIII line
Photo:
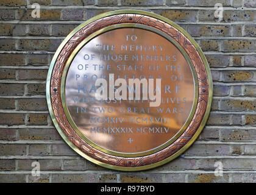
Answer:
[[0, 113], [0, 124], [12, 126], [16, 124], [24, 124], [24, 121], [24, 114]]

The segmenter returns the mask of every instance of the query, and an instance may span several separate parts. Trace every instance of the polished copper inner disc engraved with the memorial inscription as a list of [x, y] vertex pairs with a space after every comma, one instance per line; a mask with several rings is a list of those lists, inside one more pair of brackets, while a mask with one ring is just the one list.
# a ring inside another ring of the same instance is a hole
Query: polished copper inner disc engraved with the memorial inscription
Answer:
[[[109, 74], [127, 83], [160, 78], [161, 104], [98, 101], [95, 80], [109, 80]], [[138, 28], [110, 30], [88, 41], [69, 66], [65, 83], [68, 112], [82, 135], [107, 151], [127, 154], [153, 150], [174, 138], [190, 116], [194, 91], [182, 52], [161, 35]]]

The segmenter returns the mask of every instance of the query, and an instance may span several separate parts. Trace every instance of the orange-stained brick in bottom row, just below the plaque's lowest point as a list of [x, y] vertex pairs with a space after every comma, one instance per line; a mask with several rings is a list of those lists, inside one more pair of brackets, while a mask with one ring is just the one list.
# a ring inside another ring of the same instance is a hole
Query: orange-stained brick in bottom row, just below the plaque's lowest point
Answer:
[[120, 179], [122, 183], [161, 183], [163, 182], [162, 174], [136, 174], [136, 173], [126, 173], [120, 174]]

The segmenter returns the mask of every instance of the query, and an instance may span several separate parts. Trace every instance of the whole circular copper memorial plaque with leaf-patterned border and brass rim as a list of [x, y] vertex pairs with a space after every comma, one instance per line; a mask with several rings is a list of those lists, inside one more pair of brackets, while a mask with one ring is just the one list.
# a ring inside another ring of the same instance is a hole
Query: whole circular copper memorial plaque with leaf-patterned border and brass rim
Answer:
[[198, 137], [212, 103], [199, 46], [162, 16], [118, 10], [89, 19], [57, 49], [49, 112], [82, 157], [138, 171], [178, 157]]

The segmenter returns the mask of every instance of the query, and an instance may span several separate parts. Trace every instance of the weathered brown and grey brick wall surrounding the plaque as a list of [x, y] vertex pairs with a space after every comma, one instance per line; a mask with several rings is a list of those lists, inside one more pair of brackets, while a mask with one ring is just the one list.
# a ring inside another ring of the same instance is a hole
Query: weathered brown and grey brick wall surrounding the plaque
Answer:
[[[35, 2], [40, 18], [31, 16]], [[223, 21], [214, 16], [217, 2]], [[63, 38], [118, 9], [147, 10], [182, 26], [213, 76], [212, 111], [197, 141], [149, 171], [111, 171], [84, 160], [55, 130], [46, 105], [46, 74]], [[0, 18], [0, 182], [256, 182], [256, 1], [1, 0]], [[40, 177], [31, 175], [33, 161]], [[214, 175], [216, 161], [222, 177]]]

